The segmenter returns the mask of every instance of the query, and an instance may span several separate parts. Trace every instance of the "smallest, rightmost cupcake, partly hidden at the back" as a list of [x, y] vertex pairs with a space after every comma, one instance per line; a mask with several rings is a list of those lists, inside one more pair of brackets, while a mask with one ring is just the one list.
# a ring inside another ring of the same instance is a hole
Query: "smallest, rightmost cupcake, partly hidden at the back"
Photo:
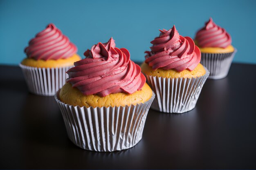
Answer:
[[210, 71], [210, 79], [227, 76], [236, 49], [231, 45], [229, 33], [210, 18], [195, 35], [195, 44], [201, 51], [201, 64]]

